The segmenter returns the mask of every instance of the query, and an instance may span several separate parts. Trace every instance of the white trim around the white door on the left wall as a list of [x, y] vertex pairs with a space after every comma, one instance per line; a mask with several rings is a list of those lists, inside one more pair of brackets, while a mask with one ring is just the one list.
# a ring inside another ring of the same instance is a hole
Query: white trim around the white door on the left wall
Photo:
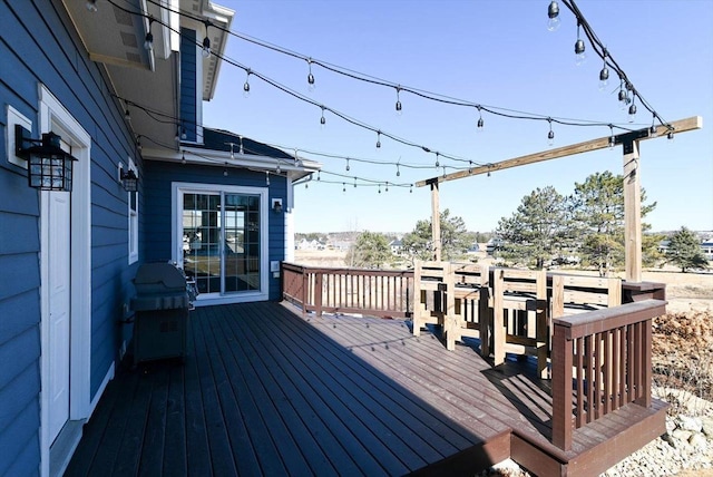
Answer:
[[[71, 193], [71, 330], [70, 330], [70, 398], [69, 419], [88, 419], [91, 412], [91, 136], [69, 114], [43, 85], [39, 86], [40, 133], [61, 132], [62, 139], [72, 144], [72, 155], [79, 159], [74, 165]], [[48, 192], [41, 193], [42, 208]], [[40, 216], [41, 243], [46, 244], [49, 233], [47, 217]], [[43, 350], [40, 358], [41, 389], [48, 389], [50, 364], [48, 329], [47, 290], [47, 247], [40, 245], [40, 296], [41, 322], [40, 343]], [[50, 471], [50, 437], [47, 429], [49, 418], [49, 397], [41, 392], [40, 415], [40, 471], [42, 476]]]

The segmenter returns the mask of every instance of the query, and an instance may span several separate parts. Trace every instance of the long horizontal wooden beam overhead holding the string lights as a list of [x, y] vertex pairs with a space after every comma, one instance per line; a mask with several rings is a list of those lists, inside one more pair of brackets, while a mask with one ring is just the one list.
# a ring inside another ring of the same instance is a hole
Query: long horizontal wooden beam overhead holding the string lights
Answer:
[[[703, 118], [701, 116], [693, 116], [686, 119], [680, 119], [671, 123], [674, 134], [685, 133], [688, 130], [701, 129], [703, 127]], [[629, 134], [629, 133], [625, 133]], [[647, 133], [644, 139], [655, 139], [657, 137], [666, 137], [668, 129], [660, 126], [655, 134]], [[470, 172], [458, 171], [455, 173], [432, 177], [426, 181], [419, 181], [416, 183], [417, 187], [423, 187], [432, 183], [441, 183], [447, 181], [455, 181], [463, 177], [487, 174], [490, 172], [509, 169], [512, 167], [525, 166], [528, 164], [541, 163], [544, 160], [557, 159], [559, 157], [574, 156], [575, 154], [589, 153], [592, 150], [605, 149], [609, 147], [609, 136], [599, 137], [598, 139], [592, 139], [584, 143], [573, 144], [569, 146], [557, 147], [555, 149], [548, 149], [540, 153], [528, 154], [526, 156], [515, 157], [512, 159], [501, 160], [499, 163], [486, 164], [478, 167], [472, 167]]]

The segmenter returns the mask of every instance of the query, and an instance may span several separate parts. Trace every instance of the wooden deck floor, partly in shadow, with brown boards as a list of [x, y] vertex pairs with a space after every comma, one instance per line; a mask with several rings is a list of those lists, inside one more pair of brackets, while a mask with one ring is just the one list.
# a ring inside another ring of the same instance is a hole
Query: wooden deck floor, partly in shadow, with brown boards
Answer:
[[472, 475], [508, 457], [596, 475], [665, 431], [662, 403], [628, 405], [561, 451], [534, 362], [492, 368], [476, 340], [447, 351], [409, 324], [197, 309], [185, 364], [121, 368], [66, 475]]

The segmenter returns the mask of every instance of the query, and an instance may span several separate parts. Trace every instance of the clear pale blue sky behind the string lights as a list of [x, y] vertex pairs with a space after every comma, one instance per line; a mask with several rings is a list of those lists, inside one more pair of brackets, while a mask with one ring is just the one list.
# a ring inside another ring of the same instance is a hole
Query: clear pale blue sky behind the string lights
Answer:
[[[617, 101], [618, 79], [598, 88], [603, 61], [586, 42], [587, 60], [575, 64], [575, 17], [559, 3], [561, 25], [547, 30], [549, 0], [218, 0], [235, 10], [232, 30], [322, 62], [500, 110], [644, 128], [652, 115], [641, 105], [633, 124]], [[713, 230], [713, 0], [578, 0], [597, 37], [641, 95], [666, 121], [703, 117], [703, 128], [641, 143], [642, 186], [656, 208], [644, 222], [653, 231], [686, 226]], [[584, 36], [583, 36], [584, 37]], [[225, 56], [319, 105], [432, 152], [381, 138], [287, 95], [254, 75], [224, 64], [204, 124], [322, 163], [309, 188], [294, 189], [296, 232], [406, 233], [431, 216], [429, 187], [397, 187], [442, 175], [452, 167], [497, 163], [598, 137], [609, 128], [506, 119], [472, 107], [447, 105], [354, 80], [272, 49], [231, 37]], [[614, 75], [612, 75], [614, 76]], [[307, 154], [316, 152], [323, 155]], [[345, 157], [352, 159], [346, 171]], [[399, 166], [414, 165], [419, 168]], [[563, 195], [594, 173], [623, 173], [621, 147], [451, 181], [440, 186], [441, 211], [460, 216], [469, 231], [491, 232], [524, 196], [554, 186]], [[339, 174], [339, 175], [335, 175]], [[342, 177], [342, 176], [345, 177]], [[359, 185], [371, 179], [381, 186]], [[336, 182], [329, 184], [328, 181]], [[390, 183], [387, 192], [387, 182]], [[345, 191], [343, 191], [345, 189]], [[381, 189], [381, 193], [379, 193]]]

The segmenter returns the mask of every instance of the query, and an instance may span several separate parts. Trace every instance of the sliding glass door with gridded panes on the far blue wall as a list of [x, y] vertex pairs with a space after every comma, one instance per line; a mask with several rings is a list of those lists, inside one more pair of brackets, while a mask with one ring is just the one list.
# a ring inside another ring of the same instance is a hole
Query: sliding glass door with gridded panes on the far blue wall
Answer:
[[264, 193], [178, 188], [180, 262], [199, 299], [266, 293]]

